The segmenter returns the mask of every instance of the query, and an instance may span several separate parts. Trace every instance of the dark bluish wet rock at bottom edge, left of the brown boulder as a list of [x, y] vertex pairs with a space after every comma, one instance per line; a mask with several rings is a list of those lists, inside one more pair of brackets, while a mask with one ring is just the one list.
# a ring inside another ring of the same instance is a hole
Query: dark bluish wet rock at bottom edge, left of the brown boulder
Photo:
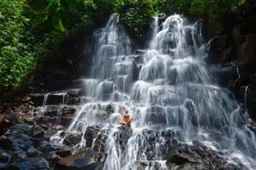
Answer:
[[37, 169], [37, 170], [47, 170], [50, 169], [48, 162], [42, 157], [30, 157], [26, 160], [15, 161], [13, 164], [8, 166], [7, 169]]

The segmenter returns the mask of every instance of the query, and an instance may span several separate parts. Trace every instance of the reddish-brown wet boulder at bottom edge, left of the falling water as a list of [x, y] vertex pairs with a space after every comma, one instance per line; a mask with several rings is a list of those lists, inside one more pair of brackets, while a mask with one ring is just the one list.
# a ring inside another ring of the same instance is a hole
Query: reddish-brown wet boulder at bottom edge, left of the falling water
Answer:
[[102, 153], [94, 152], [89, 148], [84, 149], [72, 156], [66, 156], [58, 161], [55, 169], [71, 170], [71, 169], [88, 169], [99, 170], [102, 169], [104, 164], [105, 155]]

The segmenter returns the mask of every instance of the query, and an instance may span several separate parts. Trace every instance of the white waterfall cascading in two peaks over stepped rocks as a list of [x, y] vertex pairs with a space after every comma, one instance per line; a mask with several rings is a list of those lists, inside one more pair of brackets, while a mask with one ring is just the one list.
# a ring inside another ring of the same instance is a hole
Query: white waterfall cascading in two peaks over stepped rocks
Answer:
[[[86, 103], [70, 130], [85, 134], [89, 127], [99, 128], [90, 148], [105, 138], [104, 169], [137, 169], [141, 164], [144, 169], [166, 169], [170, 136], [186, 144], [200, 140], [225, 152], [231, 162], [238, 158], [256, 168], [255, 136], [246, 127], [247, 115], [207, 70], [201, 23], [190, 25], [174, 14], [162, 28], [154, 18], [153, 29], [150, 47], [140, 55], [131, 53], [118, 14], [94, 34], [93, 66], [84, 80]], [[130, 128], [118, 124], [125, 108], [133, 113]], [[86, 140], [80, 145], [89, 146]]]

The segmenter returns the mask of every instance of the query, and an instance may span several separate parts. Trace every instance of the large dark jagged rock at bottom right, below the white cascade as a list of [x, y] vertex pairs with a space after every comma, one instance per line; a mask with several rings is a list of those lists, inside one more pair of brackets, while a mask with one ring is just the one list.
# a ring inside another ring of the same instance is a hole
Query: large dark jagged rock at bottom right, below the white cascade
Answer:
[[242, 165], [230, 164], [220, 152], [206, 148], [199, 141], [194, 141], [193, 146], [171, 142], [166, 163], [177, 169], [246, 169]]

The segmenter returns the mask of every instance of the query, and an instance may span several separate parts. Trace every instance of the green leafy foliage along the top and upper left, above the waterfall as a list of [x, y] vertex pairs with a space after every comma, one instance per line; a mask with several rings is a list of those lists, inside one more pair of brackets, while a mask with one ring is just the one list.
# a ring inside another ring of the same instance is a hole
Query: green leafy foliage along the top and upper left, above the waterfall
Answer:
[[[94, 30], [111, 13], [140, 38], [150, 18], [181, 12], [222, 16], [245, 0], [1, 0], [0, 89], [18, 89], [62, 38]], [[1, 91], [1, 90], [0, 90]]]

